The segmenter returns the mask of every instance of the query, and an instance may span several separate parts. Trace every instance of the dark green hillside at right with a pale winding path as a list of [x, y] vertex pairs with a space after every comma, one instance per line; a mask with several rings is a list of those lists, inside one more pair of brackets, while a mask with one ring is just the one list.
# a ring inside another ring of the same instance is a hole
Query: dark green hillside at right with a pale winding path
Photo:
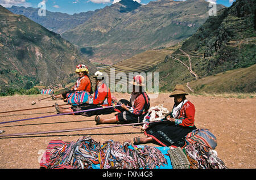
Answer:
[[237, 0], [210, 16], [154, 70], [159, 72], [160, 89], [170, 91], [175, 84], [191, 82], [195, 91], [255, 92], [255, 6], [253, 0]]

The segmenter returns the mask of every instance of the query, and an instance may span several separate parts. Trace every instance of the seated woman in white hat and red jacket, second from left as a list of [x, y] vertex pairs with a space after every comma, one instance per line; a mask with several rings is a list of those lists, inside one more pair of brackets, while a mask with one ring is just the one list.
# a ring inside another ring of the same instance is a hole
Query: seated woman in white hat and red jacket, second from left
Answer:
[[[95, 76], [93, 76], [96, 80], [96, 87], [93, 97], [88, 98], [88, 102], [86, 104], [81, 104], [78, 106], [72, 106], [71, 108], [61, 108], [55, 103], [55, 108], [59, 113], [74, 113], [75, 115], [84, 115], [86, 117], [91, 117], [92, 115], [98, 114], [111, 114], [115, 112], [114, 108], [104, 108], [98, 109], [106, 106], [112, 106], [112, 97], [111, 92], [104, 82], [104, 76], [102, 72], [97, 71]], [[81, 112], [76, 113], [83, 110], [89, 109], [97, 109], [97, 110], [90, 110], [88, 112]]]

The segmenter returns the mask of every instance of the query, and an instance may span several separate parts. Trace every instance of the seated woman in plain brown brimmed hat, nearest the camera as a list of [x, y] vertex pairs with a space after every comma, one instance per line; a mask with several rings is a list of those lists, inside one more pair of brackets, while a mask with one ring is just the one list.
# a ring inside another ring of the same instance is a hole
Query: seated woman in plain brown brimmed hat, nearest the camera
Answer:
[[187, 100], [183, 85], [176, 85], [170, 97], [174, 97], [174, 107], [166, 119], [159, 123], [151, 123], [144, 134], [145, 138], [134, 138], [134, 144], [158, 143], [163, 146], [175, 145], [183, 147], [185, 136], [196, 129], [195, 106]]

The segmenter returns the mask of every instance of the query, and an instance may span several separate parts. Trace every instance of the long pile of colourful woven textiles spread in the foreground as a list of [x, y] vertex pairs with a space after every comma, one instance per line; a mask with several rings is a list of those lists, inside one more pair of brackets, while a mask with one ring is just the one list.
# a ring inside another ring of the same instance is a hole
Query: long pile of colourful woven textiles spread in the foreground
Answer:
[[44, 153], [40, 168], [120, 168], [155, 169], [167, 164], [159, 149], [145, 145], [144, 148], [125, 142], [109, 140], [100, 143], [91, 137], [82, 137], [77, 142], [53, 140]]

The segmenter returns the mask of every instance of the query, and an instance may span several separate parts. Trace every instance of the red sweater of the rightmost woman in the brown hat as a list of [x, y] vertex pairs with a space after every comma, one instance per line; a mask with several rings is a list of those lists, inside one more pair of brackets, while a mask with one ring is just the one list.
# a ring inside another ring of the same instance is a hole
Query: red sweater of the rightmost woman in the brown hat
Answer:
[[195, 122], [195, 106], [187, 101], [180, 109], [179, 116], [175, 119], [175, 125], [193, 127]]

